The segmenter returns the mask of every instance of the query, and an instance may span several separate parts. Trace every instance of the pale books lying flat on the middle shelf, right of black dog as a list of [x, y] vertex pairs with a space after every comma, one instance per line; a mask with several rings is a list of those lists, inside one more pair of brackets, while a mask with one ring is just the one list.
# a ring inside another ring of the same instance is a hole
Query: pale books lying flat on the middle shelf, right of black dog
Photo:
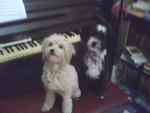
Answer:
[[135, 67], [139, 67], [148, 62], [147, 58], [136, 46], [126, 46], [121, 55], [121, 59]]

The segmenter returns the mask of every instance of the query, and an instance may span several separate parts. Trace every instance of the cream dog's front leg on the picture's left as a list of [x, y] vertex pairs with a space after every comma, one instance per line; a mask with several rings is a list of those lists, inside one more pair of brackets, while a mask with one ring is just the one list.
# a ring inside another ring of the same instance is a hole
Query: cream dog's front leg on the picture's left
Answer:
[[52, 92], [52, 91], [47, 89], [46, 90], [45, 100], [44, 100], [44, 103], [43, 103], [43, 106], [42, 106], [41, 110], [43, 112], [49, 111], [53, 107], [54, 102], [55, 102], [55, 94], [54, 94], [54, 92]]

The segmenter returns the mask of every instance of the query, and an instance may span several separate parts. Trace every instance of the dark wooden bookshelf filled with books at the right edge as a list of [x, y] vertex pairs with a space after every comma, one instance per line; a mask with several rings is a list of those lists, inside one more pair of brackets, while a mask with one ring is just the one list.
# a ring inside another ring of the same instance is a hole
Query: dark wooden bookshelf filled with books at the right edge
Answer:
[[[136, 46], [149, 62], [150, 20], [145, 19], [146, 12], [126, 9], [123, 14], [128, 22], [125, 46]], [[129, 89], [128, 94], [130, 94], [133, 102], [150, 112], [150, 73], [144, 71], [145, 63], [137, 66], [124, 57], [120, 59], [122, 68], [119, 70], [120, 74], [117, 78], [119, 83]]]

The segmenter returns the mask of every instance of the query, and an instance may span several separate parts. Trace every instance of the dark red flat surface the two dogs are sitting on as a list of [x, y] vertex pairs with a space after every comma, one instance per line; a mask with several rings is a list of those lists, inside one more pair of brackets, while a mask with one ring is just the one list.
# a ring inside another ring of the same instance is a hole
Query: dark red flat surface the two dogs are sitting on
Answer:
[[[101, 101], [89, 92], [79, 100], [73, 101], [73, 113], [103, 113], [106, 110], [129, 102], [127, 96], [114, 84], [108, 83], [107, 98]], [[23, 95], [0, 100], [0, 113], [42, 113], [44, 90], [33, 91]], [[61, 113], [61, 104], [58, 101], [48, 113]]]

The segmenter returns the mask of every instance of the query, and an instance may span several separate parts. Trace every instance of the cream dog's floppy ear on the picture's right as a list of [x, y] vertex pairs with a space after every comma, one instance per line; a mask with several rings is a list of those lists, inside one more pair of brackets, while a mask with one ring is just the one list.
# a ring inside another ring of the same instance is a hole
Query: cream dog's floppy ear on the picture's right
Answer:
[[68, 43], [67, 51], [66, 51], [66, 60], [67, 63], [70, 63], [70, 60], [73, 55], [75, 55], [75, 48], [71, 43]]

